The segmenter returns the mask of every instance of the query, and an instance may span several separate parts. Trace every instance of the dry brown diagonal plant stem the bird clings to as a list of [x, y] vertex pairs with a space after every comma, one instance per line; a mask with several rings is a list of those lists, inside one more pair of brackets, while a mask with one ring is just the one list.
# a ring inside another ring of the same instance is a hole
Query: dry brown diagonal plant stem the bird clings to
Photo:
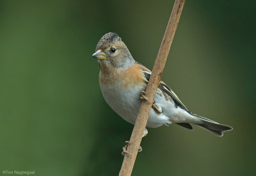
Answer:
[[[185, 0], [175, 0], [145, 93], [145, 96], [150, 102], [154, 102], [157, 87], [172, 45], [173, 36], [175, 35], [184, 3]], [[130, 143], [127, 147], [127, 152], [129, 152], [129, 154], [125, 154], [124, 156], [124, 161], [119, 172], [120, 176], [127, 176], [132, 173], [132, 168], [138, 154], [138, 149], [140, 148], [141, 138], [143, 136], [143, 131], [146, 127], [151, 108], [152, 103], [148, 103], [146, 101], [141, 103], [140, 111], [131, 134]]]

